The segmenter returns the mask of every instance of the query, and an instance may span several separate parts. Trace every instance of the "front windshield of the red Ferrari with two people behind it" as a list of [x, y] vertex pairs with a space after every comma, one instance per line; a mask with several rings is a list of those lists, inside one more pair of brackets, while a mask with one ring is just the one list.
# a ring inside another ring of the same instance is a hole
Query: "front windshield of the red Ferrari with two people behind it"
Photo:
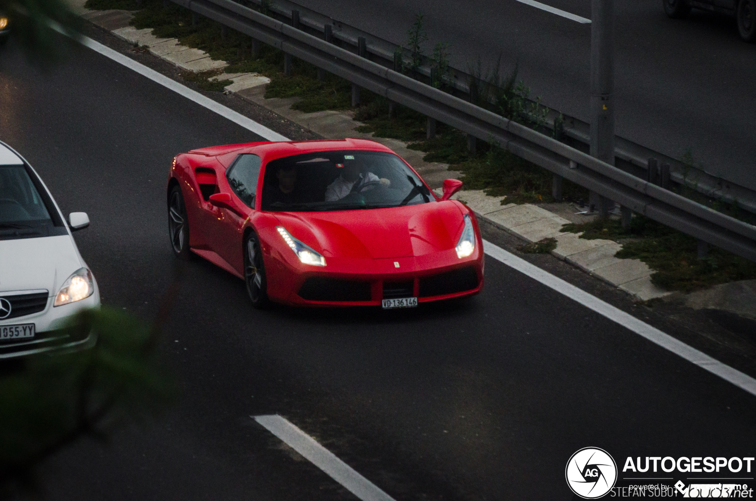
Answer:
[[262, 210], [358, 210], [435, 201], [426, 185], [395, 154], [318, 151], [272, 160], [265, 166]]

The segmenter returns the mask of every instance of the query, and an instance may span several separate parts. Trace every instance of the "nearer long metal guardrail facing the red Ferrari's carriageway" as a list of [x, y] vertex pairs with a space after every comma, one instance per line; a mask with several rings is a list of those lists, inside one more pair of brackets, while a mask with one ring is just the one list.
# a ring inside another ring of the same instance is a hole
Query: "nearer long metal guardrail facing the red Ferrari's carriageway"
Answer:
[[488, 142], [702, 241], [756, 261], [756, 226], [673, 191], [519, 123], [244, 7], [233, 0], [172, 0], [253, 39], [364, 89]]

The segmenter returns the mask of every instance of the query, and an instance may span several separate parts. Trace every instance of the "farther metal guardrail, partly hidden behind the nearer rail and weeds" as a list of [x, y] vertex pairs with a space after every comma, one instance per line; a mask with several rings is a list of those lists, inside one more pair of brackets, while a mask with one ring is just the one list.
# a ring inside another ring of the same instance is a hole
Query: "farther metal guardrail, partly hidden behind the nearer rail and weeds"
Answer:
[[[243, 3], [243, 0], [241, 1]], [[253, 5], [262, 5], [262, 0], [246, 1]], [[393, 58], [397, 51], [401, 51], [404, 61], [411, 61], [411, 51], [406, 48], [402, 48], [400, 45], [396, 45], [388, 40], [381, 39], [373, 34], [359, 30], [354, 26], [349, 26], [349, 24], [342, 23], [339, 20], [334, 20], [324, 14], [302, 7], [302, 5], [291, 2], [291, 0], [275, 0], [274, 3], [268, 5], [268, 8], [271, 11], [270, 14], [277, 17], [279, 20], [291, 20], [293, 11], [297, 11], [299, 13], [299, 28], [305, 30], [311, 35], [314, 34], [319, 38], [323, 38], [324, 36], [324, 26], [330, 25], [332, 27], [334, 41], [339, 43], [342, 48], [349, 48], [350, 50], [357, 52], [358, 40], [361, 37], [364, 38], [368, 58], [372, 61], [382, 63], [383, 66], [393, 67]], [[417, 69], [417, 73], [429, 78], [431, 66], [432, 61], [425, 57], [423, 58], [423, 64]], [[449, 75], [448, 79], [445, 80], [445, 83], [453, 89], [456, 89], [460, 95], [469, 96], [470, 79], [471, 76], [469, 73], [465, 73], [463, 70], [454, 67], [449, 67]], [[529, 101], [534, 103], [532, 100]], [[571, 139], [572, 145], [578, 149], [588, 151], [590, 145], [589, 123], [576, 117], [560, 114], [559, 110], [550, 110], [544, 125], [553, 130], [554, 121], [560, 117], [560, 115], [563, 120], [564, 136]], [[639, 145], [636, 142], [632, 142], [627, 138], [615, 136], [615, 164], [621, 170], [625, 170], [635, 176], [647, 179], [649, 159], [651, 158], [657, 159], [659, 165], [664, 163], [670, 165], [670, 178], [672, 182], [686, 185], [688, 188], [699, 191], [709, 198], [726, 201], [727, 203], [737, 202], [738, 206], [742, 209], [748, 210], [748, 212], [751, 213], [756, 213], [756, 191], [754, 191], [754, 189], [729, 182], [720, 176], [707, 173], [699, 167], [687, 165], [680, 159], [669, 157], [658, 151], [653, 151], [652, 149]]]

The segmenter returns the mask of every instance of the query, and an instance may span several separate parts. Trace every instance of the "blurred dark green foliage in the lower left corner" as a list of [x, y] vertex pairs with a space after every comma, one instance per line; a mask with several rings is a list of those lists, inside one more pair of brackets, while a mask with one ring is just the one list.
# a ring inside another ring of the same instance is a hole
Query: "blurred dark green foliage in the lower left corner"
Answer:
[[82, 437], [104, 439], [126, 420], [163, 409], [175, 395], [160, 366], [155, 328], [108, 307], [65, 329], [98, 334], [94, 347], [39, 354], [0, 377], [0, 498], [33, 487], [37, 465]]

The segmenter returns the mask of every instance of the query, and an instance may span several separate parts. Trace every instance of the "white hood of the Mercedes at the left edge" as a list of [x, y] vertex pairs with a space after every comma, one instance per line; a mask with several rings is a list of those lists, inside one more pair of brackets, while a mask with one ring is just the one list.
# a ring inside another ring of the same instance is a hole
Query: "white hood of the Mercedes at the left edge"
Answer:
[[0, 292], [47, 289], [55, 294], [81, 268], [69, 235], [0, 240]]

